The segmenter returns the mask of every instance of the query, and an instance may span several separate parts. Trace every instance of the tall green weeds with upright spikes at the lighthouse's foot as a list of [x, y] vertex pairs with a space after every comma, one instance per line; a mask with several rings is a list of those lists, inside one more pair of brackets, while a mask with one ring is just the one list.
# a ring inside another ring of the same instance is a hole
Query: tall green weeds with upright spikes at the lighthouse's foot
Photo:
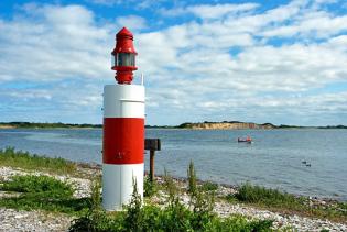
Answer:
[[189, 210], [180, 201], [178, 189], [171, 176], [165, 172], [164, 188], [166, 191], [165, 207], [151, 203], [141, 206], [141, 197], [134, 191], [127, 210], [122, 212], [106, 212], [100, 207], [99, 191], [93, 190], [94, 203], [80, 218], [74, 220], [69, 231], [220, 231], [220, 232], [253, 232], [272, 231], [271, 220], [247, 220], [242, 216], [230, 216], [221, 219], [213, 212], [213, 202], [206, 200], [206, 192], [196, 186], [196, 176], [193, 164], [189, 165], [188, 179], [191, 180], [189, 196], [192, 201]]

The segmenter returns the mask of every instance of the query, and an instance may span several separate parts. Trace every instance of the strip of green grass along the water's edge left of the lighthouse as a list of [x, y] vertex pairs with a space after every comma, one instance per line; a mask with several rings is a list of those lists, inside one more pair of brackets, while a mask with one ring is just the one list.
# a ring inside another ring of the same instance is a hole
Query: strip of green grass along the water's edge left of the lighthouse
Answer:
[[45, 170], [55, 174], [74, 174], [76, 164], [64, 158], [50, 158], [30, 154], [29, 152], [15, 151], [13, 147], [0, 150], [0, 165], [19, 167], [31, 170]]

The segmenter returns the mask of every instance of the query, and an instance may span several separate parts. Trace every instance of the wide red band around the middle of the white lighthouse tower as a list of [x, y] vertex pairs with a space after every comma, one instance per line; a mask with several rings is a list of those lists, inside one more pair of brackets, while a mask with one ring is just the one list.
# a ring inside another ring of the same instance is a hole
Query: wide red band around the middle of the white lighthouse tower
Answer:
[[144, 119], [104, 118], [105, 164], [141, 164], [143, 152]]

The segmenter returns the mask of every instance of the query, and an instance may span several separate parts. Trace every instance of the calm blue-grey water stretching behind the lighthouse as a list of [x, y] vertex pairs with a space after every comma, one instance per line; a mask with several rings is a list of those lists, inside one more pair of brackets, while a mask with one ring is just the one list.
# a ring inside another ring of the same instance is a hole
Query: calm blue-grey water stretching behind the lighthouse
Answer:
[[[238, 144], [251, 135], [252, 144]], [[186, 176], [191, 159], [200, 179], [247, 180], [293, 194], [347, 200], [347, 130], [147, 130], [160, 137], [155, 172]], [[0, 130], [0, 148], [101, 163], [101, 130]], [[145, 156], [148, 169], [149, 155]], [[312, 166], [306, 167], [302, 161]]]

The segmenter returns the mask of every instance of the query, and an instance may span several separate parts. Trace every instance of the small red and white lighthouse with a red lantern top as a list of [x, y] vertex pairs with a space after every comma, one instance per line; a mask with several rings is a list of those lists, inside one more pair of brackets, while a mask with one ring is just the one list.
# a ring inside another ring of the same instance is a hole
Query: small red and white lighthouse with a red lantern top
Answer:
[[128, 29], [117, 33], [111, 54], [117, 84], [104, 87], [102, 207], [121, 210], [134, 181], [143, 196], [144, 87], [131, 85], [138, 68]]

